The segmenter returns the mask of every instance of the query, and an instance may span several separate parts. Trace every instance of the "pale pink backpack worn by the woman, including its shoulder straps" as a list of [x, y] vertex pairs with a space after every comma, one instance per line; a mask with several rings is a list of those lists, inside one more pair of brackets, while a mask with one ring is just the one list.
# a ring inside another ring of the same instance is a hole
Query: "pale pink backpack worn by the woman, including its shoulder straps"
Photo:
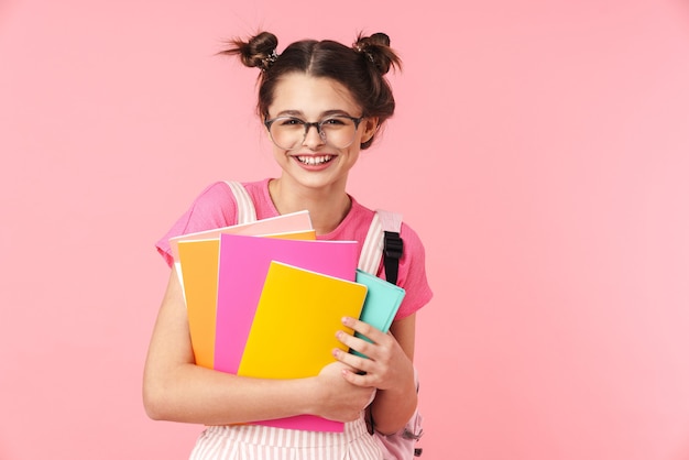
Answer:
[[[239, 182], [227, 182], [237, 200], [237, 223], [248, 223], [256, 220], [253, 201], [244, 186]], [[373, 216], [371, 227], [363, 242], [359, 269], [368, 273], [378, 273], [378, 267], [383, 259], [385, 278], [387, 282], [397, 283], [397, 269], [403, 253], [403, 241], [400, 238], [402, 216], [398, 213], [379, 209]], [[416, 391], [418, 392], [418, 375], [414, 370]], [[423, 417], [418, 408], [400, 431], [393, 435], [383, 435], [375, 430], [373, 420], [367, 420], [369, 431], [372, 432], [381, 450], [384, 460], [413, 460], [420, 457], [422, 449], [416, 442], [424, 434], [422, 427]]]

